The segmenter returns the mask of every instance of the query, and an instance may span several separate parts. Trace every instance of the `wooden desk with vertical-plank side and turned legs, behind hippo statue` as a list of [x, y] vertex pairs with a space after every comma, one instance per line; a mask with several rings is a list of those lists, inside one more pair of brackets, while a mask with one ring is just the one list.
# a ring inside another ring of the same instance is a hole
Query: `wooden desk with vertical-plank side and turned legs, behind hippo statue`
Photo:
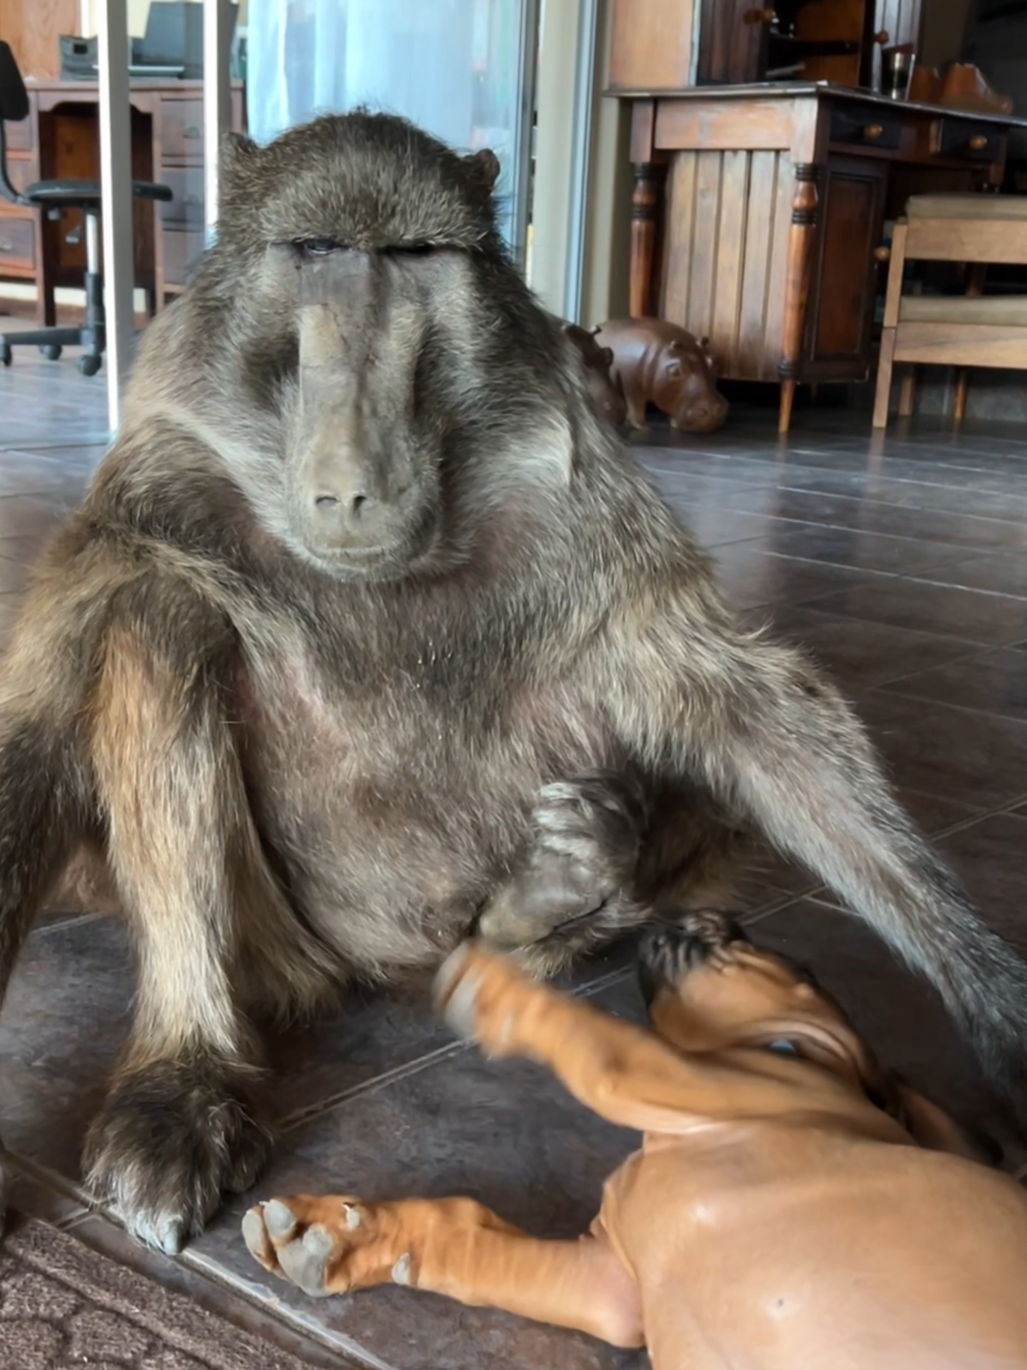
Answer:
[[824, 84], [608, 92], [631, 103], [630, 299], [709, 337], [722, 377], [865, 381], [886, 218], [997, 186], [1027, 121]]

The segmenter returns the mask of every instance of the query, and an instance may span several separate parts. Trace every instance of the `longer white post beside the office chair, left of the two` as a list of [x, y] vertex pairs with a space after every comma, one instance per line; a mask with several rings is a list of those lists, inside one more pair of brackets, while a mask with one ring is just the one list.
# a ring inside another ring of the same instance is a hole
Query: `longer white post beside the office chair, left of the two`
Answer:
[[96, 7], [100, 84], [100, 186], [104, 301], [107, 311], [107, 411], [111, 436], [136, 333], [136, 264], [131, 236], [131, 110], [129, 104], [127, 0]]

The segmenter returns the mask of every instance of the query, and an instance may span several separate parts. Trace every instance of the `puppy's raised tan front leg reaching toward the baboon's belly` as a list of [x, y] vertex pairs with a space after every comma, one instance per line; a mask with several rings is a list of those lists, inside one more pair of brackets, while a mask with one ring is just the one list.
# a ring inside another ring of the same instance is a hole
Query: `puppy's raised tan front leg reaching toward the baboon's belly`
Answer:
[[586, 1107], [622, 1128], [676, 1133], [697, 1114], [733, 1112], [735, 1074], [715, 1059], [672, 1051], [646, 1029], [527, 980], [507, 958], [475, 945], [466, 943], [442, 964], [435, 997], [449, 1026], [487, 1055], [548, 1066]]

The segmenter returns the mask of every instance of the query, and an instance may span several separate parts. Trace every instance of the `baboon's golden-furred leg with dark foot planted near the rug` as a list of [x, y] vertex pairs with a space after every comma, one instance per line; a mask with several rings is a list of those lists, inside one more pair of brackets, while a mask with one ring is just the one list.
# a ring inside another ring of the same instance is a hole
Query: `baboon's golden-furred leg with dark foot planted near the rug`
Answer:
[[[226, 664], [196, 664], [201, 608], [162, 603], [162, 632], [108, 629], [93, 760], [108, 856], [138, 954], [129, 1041], [90, 1128], [85, 1169], [142, 1240], [177, 1252], [270, 1145], [260, 1044], [234, 1001], [240, 866], [260, 862]], [[127, 618], [127, 615], [126, 615]], [[197, 622], [197, 618], [200, 619]], [[177, 655], [189, 643], [190, 667]], [[211, 653], [214, 655], [214, 653]]]

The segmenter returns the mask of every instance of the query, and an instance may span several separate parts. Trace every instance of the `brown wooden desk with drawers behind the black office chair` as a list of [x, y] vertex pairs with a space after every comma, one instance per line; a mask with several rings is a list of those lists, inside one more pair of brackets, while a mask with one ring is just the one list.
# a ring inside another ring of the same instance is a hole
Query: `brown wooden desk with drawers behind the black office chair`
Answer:
[[[26, 81], [29, 118], [7, 123], [7, 163], [18, 189], [56, 177], [100, 174], [97, 86], [86, 81]], [[182, 289], [204, 247], [203, 84], [133, 81], [131, 166], [137, 179], [168, 185], [174, 199], [133, 208], [136, 285], [151, 312]], [[241, 82], [233, 84], [231, 126], [245, 129]], [[77, 214], [49, 221], [0, 199], [0, 278], [37, 286], [37, 316], [55, 322], [53, 289], [82, 288], [85, 244], [67, 242]]]

